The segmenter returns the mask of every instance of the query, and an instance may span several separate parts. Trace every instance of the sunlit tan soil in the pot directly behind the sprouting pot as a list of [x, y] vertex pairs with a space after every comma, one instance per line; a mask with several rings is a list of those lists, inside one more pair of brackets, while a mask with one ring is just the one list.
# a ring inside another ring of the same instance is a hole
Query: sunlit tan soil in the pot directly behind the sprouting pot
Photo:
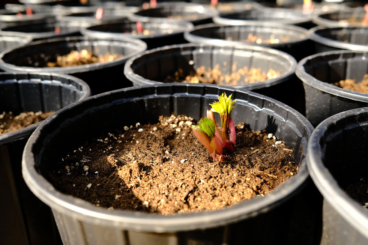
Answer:
[[[223, 64], [227, 65], [226, 62]], [[215, 68], [206, 68], [200, 66], [196, 71], [191, 71], [188, 74], [184, 74], [183, 69], [178, 69], [173, 76], [167, 76], [164, 80], [165, 83], [172, 82], [184, 82], [184, 83], [215, 83], [219, 85], [240, 85], [244, 83], [256, 83], [264, 82], [267, 79], [277, 78], [280, 76], [280, 72], [276, 72], [273, 69], [262, 72], [261, 68], [250, 68], [247, 66], [237, 69], [237, 63], [234, 63], [231, 68], [230, 75], [224, 75], [222, 68], [219, 64], [215, 65]]]

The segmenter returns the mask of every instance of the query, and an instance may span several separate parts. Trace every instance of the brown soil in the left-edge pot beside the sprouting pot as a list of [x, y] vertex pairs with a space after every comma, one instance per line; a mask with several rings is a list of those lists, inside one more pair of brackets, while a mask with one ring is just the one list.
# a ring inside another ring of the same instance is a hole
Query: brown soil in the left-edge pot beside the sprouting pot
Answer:
[[3, 112], [0, 114], [0, 134], [13, 132], [18, 129], [23, 129], [29, 125], [41, 122], [51, 116], [55, 111], [51, 112], [22, 112], [14, 116], [12, 112]]

